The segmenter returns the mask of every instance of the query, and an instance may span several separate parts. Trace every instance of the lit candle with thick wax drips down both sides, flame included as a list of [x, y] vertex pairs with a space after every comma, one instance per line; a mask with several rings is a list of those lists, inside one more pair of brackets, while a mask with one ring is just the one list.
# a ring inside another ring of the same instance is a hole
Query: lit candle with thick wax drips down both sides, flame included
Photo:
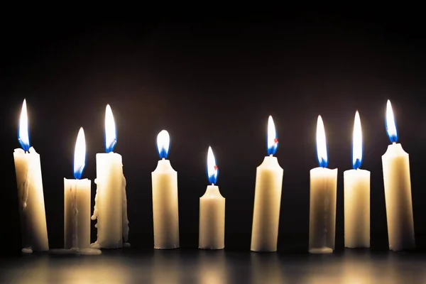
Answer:
[[[129, 236], [126, 180], [121, 155], [114, 153], [116, 127], [111, 107], [105, 111], [105, 150], [96, 154], [97, 184], [92, 220], [97, 219], [97, 241], [93, 248], [119, 249]], [[127, 243], [126, 243], [127, 244]]]

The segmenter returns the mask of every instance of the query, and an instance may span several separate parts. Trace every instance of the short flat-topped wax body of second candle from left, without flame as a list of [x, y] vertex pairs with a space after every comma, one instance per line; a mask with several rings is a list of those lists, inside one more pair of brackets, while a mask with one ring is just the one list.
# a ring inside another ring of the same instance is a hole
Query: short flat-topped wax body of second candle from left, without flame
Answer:
[[64, 178], [64, 248], [90, 247], [91, 181]]

